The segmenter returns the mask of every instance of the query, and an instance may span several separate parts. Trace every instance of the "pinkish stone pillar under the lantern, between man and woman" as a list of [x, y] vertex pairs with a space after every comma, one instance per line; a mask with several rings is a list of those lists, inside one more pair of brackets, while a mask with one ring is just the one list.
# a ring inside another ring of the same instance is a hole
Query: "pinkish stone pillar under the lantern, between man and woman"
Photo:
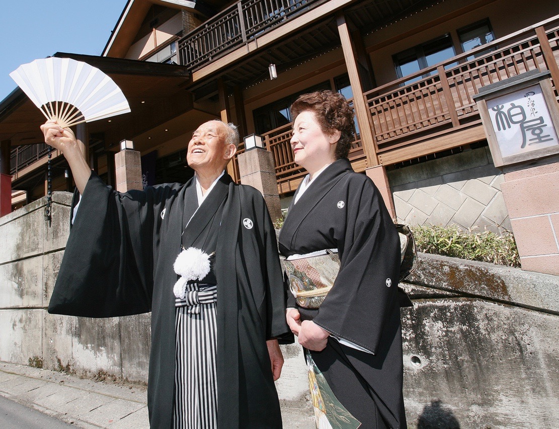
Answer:
[[254, 148], [239, 154], [238, 160], [241, 183], [262, 193], [272, 221], [281, 219], [280, 194], [272, 152]]

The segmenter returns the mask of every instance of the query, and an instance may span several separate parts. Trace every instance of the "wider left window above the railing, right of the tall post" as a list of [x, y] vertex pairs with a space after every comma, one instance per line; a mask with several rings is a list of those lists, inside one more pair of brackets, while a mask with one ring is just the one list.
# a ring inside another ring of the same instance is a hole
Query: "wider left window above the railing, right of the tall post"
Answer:
[[[441, 61], [452, 58], [454, 55], [456, 55], [456, 53], [454, 52], [454, 46], [452, 46], [451, 35], [446, 34], [394, 55], [396, 74], [399, 78], [403, 78], [412, 73], [419, 72], [419, 70], [438, 64]], [[446, 68], [455, 64], [456, 63], [447, 64]], [[414, 79], [406, 80], [404, 85], [426, 78], [429, 75], [430, 73], [425, 73]]]

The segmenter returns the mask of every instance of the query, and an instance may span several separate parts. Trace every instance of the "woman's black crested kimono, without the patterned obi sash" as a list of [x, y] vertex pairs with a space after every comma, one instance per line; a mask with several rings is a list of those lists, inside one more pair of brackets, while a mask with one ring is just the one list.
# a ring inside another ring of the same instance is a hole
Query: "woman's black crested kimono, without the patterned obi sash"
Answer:
[[[298, 307], [301, 320], [313, 320], [373, 354], [330, 336], [323, 351], [311, 352], [312, 359], [362, 428], [405, 428], [400, 241], [372, 180], [354, 173], [347, 159], [335, 161], [291, 204], [279, 241], [285, 256], [338, 249], [333, 288], [319, 309]], [[288, 307], [297, 307], [288, 295]]]

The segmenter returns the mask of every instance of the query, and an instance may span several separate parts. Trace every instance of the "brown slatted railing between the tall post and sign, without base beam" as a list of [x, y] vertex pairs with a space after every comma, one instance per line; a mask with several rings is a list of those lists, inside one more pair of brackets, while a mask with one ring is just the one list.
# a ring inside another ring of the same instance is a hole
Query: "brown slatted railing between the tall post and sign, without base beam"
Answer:
[[[559, 59], [558, 29], [548, 30], [547, 39], [543, 40], [551, 47], [554, 55], [551, 61], [556, 63]], [[547, 70], [542, 41], [535, 33], [536, 28], [529, 27], [364, 93], [377, 153], [407, 145], [414, 137], [477, 121], [479, 113], [472, 99], [477, 88], [529, 70]], [[520, 37], [523, 39], [498, 48]], [[491, 48], [495, 50], [467, 60]], [[405, 84], [427, 74], [428, 77], [418, 82]]]

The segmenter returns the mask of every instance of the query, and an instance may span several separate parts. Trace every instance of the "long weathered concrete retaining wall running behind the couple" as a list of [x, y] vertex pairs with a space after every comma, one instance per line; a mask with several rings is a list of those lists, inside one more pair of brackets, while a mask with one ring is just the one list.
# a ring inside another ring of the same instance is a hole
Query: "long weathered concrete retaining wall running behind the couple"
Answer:
[[[145, 382], [150, 316], [46, 313], [68, 234], [70, 196], [0, 218], [0, 360]], [[555, 427], [559, 277], [420, 254], [404, 284], [404, 394], [410, 428]], [[284, 346], [283, 403], [308, 409], [301, 349]], [[312, 423], [309, 427], [312, 427]]]

